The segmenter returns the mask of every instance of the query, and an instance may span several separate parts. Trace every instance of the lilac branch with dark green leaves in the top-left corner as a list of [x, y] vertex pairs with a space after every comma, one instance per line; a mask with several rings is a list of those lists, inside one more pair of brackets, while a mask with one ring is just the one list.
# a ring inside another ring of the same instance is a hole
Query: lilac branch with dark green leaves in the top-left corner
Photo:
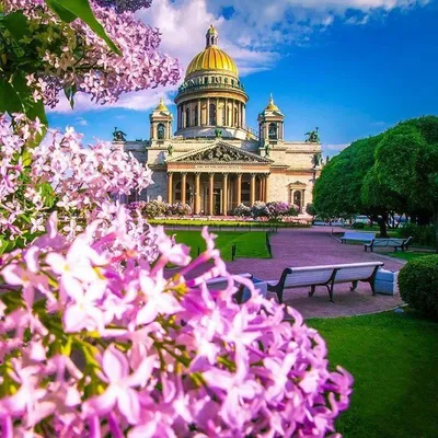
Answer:
[[[77, 91], [104, 104], [124, 92], [177, 83], [181, 66], [158, 51], [159, 30], [130, 12], [150, 2], [100, 0], [88, 5], [81, 0], [74, 10], [81, 11], [82, 20], [69, 24], [62, 22], [66, 15], [59, 0], [47, 3], [50, 8], [44, 0], [1, 3], [7, 16], [0, 23], [0, 42], [8, 44], [1, 43], [0, 48], [8, 56], [2, 58], [0, 89], [18, 94], [4, 103], [10, 114], [22, 112], [31, 118], [36, 114], [45, 122], [42, 102], [54, 107], [62, 90], [71, 105]], [[110, 3], [115, 8], [101, 7]], [[126, 12], [117, 13], [122, 10]], [[71, 9], [67, 16], [71, 20]]]

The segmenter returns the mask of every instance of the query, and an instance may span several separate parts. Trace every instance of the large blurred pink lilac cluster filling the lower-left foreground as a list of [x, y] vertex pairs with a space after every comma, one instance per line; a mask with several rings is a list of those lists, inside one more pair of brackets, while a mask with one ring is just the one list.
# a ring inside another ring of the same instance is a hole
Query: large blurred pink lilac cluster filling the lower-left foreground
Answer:
[[[3, 256], [1, 436], [333, 431], [351, 377], [327, 369], [318, 332], [290, 308], [292, 323], [283, 321], [280, 304], [229, 275], [206, 230], [207, 250], [191, 262], [188, 249], [150, 229], [146, 258], [125, 219], [122, 209], [104, 237], [95, 222], [67, 244], [54, 216], [47, 234]], [[181, 270], [164, 279], [168, 263]], [[188, 279], [199, 265], [204, 274]], [[218, 275], [226, 290], [208, 286]], [[253, 292], [242, 306], [234, 281]]]

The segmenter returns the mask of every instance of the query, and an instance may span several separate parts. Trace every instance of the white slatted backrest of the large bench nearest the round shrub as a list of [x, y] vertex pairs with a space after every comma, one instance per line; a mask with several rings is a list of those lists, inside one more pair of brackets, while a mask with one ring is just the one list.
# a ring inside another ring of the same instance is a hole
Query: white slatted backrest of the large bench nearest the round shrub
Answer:
[[365, 262], [342, 265], [289, 267], [289, 274], [285, 278], [285, 288], [298, 286], [312, 286], [326, 284], [335, 269], [335, 283], [365, 280], [371, 277], [378, 266], [383, 262]]

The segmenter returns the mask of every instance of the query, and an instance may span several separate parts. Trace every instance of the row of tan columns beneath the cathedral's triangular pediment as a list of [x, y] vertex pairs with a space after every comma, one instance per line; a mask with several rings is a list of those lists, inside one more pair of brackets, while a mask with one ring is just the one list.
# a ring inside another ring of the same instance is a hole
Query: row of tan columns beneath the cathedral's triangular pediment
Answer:
[[188, 204], [195, 215], [228, 215], [238, 205], [267, 201], [268, 173], [168, 172], [168, 203]]

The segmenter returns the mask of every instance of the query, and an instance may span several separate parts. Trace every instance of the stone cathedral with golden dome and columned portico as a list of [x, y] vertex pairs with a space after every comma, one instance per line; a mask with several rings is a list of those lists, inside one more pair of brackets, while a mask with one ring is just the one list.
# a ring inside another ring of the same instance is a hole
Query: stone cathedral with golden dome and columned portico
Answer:
[[273, 96], [258, 115], [258, 130], [251, 129], [247, 101], [211, 25], [175, 96], [176, 131], [161, 100], [150, 114], [150, 140], [124, 141], [153, 171], [154, 184], [137, 199], [186, 203], [195, 215], [228, 215], [257, 200], [291, 203], [304, 212], [321, 171], [318, 129], [306, 141], [286, 141], [285, 115]]

